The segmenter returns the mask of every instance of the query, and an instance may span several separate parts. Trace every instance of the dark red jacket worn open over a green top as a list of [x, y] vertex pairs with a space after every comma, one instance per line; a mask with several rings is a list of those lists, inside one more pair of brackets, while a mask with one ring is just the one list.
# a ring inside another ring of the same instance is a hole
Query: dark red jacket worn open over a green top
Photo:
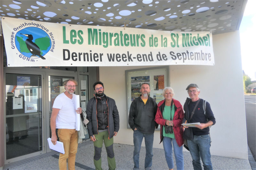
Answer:
[[[184, 144], [184, 139], [183, 139], [183, 127], [181, 125], [183, 117], [184, 117], [184, 112], [183, 108], [178, 100], [173, 99], [174, 103], [174, 109], [175, 113], [173, 116], [173, 132], [174, 136], [176, 139], [176, 142], [179, 146], [182, 146]], [[163, 141], [163, 126], [166, 125], [165, 121], [166, 119], [163, 119], [163, 112], [164, 112], [164, 106], [165, 106], [165, 100], [162, 100], [158, 103], [157, 105], [157, 112], [156, 112], [156, 117], [155, 121], [157, 124], [160, 124], [160, 143]]]

